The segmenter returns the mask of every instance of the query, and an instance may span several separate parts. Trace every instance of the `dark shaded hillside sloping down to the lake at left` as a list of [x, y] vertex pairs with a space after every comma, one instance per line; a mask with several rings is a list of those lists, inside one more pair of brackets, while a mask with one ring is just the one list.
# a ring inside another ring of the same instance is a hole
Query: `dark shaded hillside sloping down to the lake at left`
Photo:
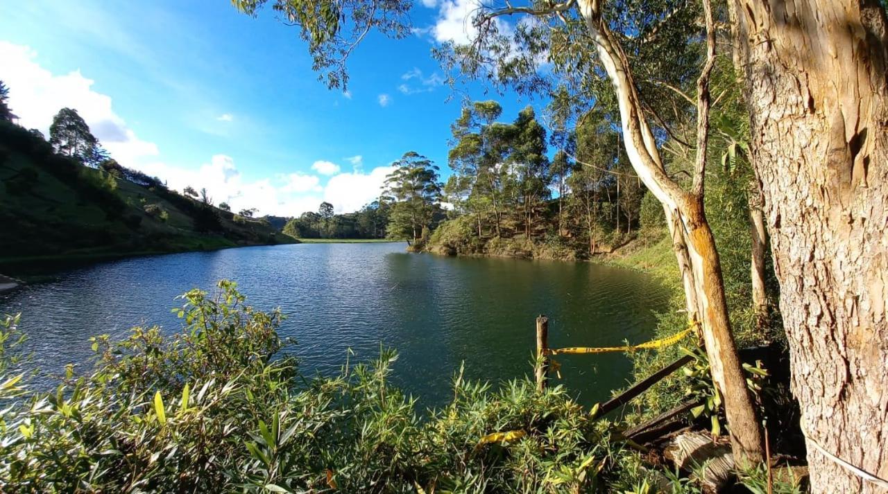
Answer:
[[203, 204], [116, 164], [104, 168], [0, 122], [0, 264], [297, 242], [265, 219]]

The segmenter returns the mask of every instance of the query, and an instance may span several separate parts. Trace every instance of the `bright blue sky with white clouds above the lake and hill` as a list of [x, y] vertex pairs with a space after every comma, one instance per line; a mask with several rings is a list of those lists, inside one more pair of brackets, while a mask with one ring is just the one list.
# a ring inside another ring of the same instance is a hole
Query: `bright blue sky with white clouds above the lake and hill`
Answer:
[[[343, 212], [378, 195], [406, 151], [447, 174], [460, 102], [446, 101], [430, 51], [464, 39], [472, 1], [417, 2], [423, 35], [369, 36], [349, 61], [347, 94], [318, 82], [296, 29], [267, 8], [253, 19], [228, 0], [4, 3], [0, 79], [22, 125], [45, 132], [75, 107], [118, 161], [170, 186], [206, 186], [217, 202], [266, 214], [321, 200]], [[468, 89], [500, 100], [507, 120], [528, 103]]]

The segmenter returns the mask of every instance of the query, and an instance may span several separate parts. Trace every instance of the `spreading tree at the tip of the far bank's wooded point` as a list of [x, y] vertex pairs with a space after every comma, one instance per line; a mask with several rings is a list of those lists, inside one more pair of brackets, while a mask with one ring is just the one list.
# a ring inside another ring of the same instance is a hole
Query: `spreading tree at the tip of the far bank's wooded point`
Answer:
[[385, 179], [386, 192], [394, 199], [388, 224], [388, 236], [422, 239], [423, 231], [432, 229], [435, 207], [440, 201], [438, 166], [425, 156], [404, 153]]

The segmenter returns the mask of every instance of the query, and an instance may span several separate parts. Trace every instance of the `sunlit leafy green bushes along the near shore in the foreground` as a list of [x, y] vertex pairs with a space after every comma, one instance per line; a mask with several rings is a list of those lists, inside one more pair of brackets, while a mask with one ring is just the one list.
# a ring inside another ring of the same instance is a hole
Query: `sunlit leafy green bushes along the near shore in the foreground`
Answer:
[[451, 404], [420, 420], [386, 382], [391, 352], [306, 380], [282, 351], [281, 313], [219, 288], [183, 295], [181, 333], [94, 339], [94, 371], [69, 369], [49, 394], [21, 384], [7, 318], [0, 490], [562, 492], [630, 466], [644, 476], [561, 388], [495, 392], [457, 375]]

